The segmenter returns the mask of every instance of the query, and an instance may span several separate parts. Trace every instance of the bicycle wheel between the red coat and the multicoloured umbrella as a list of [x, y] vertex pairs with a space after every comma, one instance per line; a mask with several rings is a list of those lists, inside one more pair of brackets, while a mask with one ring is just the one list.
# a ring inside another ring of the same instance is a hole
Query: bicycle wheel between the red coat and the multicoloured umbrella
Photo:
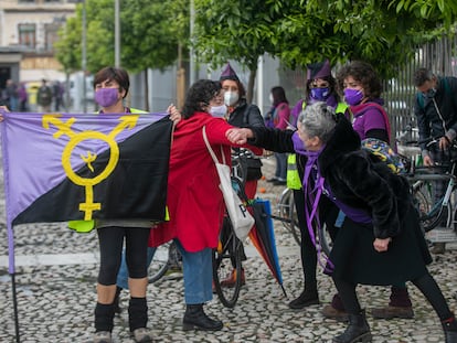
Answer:
[[[242, 287], [241, 245], [230, 219], [224, 218], [219, 246], [213, 249], [213, 281], [219, 299], [227, 308], [235, 307]], [[232, 272], [235, 272], [235, 283], [231, 287], [221, 285]]]

